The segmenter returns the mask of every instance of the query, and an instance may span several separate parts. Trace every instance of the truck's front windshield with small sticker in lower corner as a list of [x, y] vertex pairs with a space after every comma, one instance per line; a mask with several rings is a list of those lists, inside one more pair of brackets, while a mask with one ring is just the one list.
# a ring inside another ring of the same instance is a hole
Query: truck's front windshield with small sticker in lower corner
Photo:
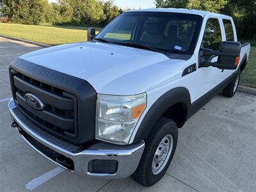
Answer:
[[95, 37], [110, 44], [159, 52], [193, 54], [203, 18], [166, 12], [122, 13]]

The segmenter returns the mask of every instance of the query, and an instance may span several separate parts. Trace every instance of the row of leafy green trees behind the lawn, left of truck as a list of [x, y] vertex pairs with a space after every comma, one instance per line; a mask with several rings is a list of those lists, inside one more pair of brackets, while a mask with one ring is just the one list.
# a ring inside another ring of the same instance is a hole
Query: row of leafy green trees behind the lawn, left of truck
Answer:
[[106, 24], [122, 10], [113, 1], [97, 0], [0, 0], [0, 17], [21, 24]]

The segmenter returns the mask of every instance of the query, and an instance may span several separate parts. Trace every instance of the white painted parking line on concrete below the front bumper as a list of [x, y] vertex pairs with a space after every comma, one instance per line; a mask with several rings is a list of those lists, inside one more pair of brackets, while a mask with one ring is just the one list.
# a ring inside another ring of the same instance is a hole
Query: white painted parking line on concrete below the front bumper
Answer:
[[25, 185], [25, 188], [28, 190], [33, 190], [33, 189], [37, 188], [38, 186], [47, 182], [47, 180], [52, 179], [53, 177], [55, 177], [56, 175], [59, 175], [60, 173], [62, 173], [64, 171], [65, 171], [65, 169], [58, 166], [57, 168], [54, 168], [53, 170], [51, 170], [47, 173], [44, 173], [44, 175], [41, 175], [41, 176], [36, 177], [35, 179], [29, 181]]

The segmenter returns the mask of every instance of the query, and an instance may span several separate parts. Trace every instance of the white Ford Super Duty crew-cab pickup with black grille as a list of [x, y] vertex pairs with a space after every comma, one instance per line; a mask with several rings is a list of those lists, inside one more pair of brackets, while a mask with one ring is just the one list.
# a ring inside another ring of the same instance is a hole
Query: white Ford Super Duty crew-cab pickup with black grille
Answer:
[[77, 175], [143, 186], [166, 172], [178, 127], [234, 96], [250, 53], [231, 17], [198, 10], [132, 10], [88, 40], [11, 63], [12, 127]]

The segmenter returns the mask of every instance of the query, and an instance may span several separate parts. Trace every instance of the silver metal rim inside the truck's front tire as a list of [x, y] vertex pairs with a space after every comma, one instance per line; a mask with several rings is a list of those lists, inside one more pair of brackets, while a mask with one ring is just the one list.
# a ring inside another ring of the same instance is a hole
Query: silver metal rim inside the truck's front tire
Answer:
[[157, 175], [160, 173], [168, 159], [172, 154], [173, 148], [173, 136], [171, 134], [166, 135], [163, 140], [159, 143], [152, 162], [152, 173]]

